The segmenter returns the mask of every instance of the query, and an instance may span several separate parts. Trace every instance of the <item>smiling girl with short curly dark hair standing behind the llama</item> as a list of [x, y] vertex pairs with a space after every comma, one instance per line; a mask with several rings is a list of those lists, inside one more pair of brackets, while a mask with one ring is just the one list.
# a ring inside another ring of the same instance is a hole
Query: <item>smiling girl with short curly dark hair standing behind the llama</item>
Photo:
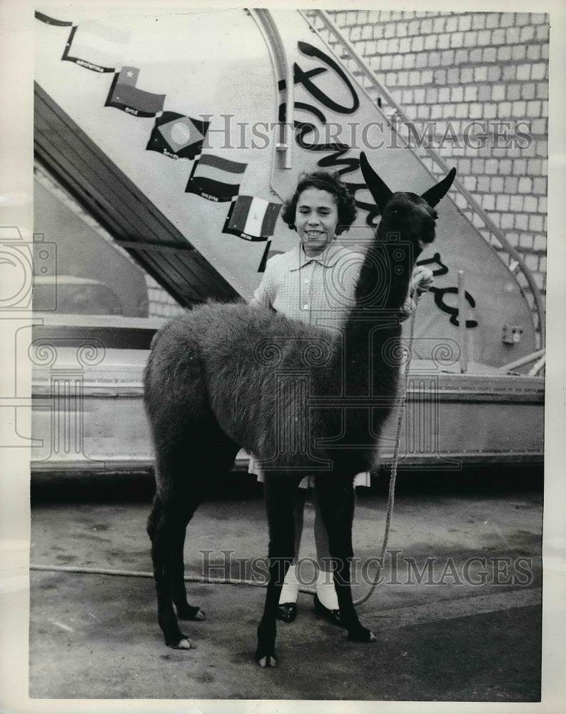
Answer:
[[[299, 236], [298, 246], [273, 256], [263, 273], [263, 280], [253, 295], [251, 304], [271, 308], [283, 315], [332, 330], [340, 327], [354, 302], [355, 285], [363, 256], [334, 242], [348, 230], [356, 216], [353, 196], [337, 174], [316, 171], [300, 177], [293, 197], [285, 203], [282, 218]], [[433, 273], [427, 268], [415, 268], [410, 295], [405, 302], [404, 318], [415, 307], [416, 291], [426, 291], [433, 283]], [[261, 468], [251, 458], [248, 468], [263, 481]], [[303, 532], [303, 511], [312, 477], [300, 483], [295, 506], [295, 562], [298, 559]], [[370, 486], [370, 474], [355, 477], [355, 486]], [[338, 598], [330, 570], [328, 537], [315, 505], [315, 543], [318, 579], [314, 598], [315, 610], [330, 622], [340, 625]], [[295, 565], [289, 568], [279, 598], [278, 618], [293, 622], [297, 613], [299, 583]]]

